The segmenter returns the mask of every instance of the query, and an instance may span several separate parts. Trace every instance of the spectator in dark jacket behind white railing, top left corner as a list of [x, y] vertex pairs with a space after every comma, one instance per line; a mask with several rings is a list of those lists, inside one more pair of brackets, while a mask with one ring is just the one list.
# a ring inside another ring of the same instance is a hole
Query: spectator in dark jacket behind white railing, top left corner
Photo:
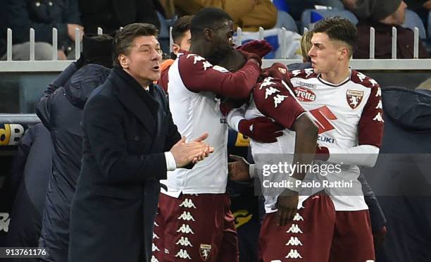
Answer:
[[[13, 31], [13, 59], [30, 58], [30, 28], [35, 29], [35, 59], [52, 59], [52, 28], [58, 30], [58, 59], [74, 58], [75, 28], [80, 25], [77, 0], [7, 0], [6, 24]], [[4, 59], [4, 57], [3, 57]]]

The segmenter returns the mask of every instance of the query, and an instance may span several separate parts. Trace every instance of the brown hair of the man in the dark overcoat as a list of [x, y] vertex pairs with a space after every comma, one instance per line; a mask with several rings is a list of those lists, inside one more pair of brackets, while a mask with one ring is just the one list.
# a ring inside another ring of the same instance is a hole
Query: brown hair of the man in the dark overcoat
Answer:
[[118, 56], [129, 53], [130, 46], [136, 37], [151, 35], [158, 37], [158, 30], [155, 25], [147, 23], [132, 23], [118, 30], [113, 40], [113, 65], [120, 66]]

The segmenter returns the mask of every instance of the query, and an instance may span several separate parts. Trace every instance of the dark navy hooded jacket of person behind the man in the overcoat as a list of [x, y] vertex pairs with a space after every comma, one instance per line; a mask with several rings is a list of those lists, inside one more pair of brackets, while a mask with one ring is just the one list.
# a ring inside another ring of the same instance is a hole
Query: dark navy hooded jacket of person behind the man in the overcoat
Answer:
[[109, 73], [111, 70], [104, 66], [84, 66], [64, 87], [55, 89], [58, 86], [51, 85], [37, 107], [37, 116], [51, 132], [54, 145], [40, 239], [40, 246], [49, 248], [48, 261], [68, 259], [70, 204], [82, 158], [82, 108], [89, 94], [105, 82]]

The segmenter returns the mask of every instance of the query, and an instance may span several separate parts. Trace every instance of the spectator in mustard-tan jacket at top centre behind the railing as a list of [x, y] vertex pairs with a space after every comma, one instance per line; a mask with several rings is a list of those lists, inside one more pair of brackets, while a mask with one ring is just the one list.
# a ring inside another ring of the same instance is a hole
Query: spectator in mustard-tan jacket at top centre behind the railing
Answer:
[[173, 0], [179, 15], [194, 15], [204, 7], [219, 8], [228, 13], [235, 27], [244, 31], [270, 29], [277, 23], [277, 8], [270, 0]]

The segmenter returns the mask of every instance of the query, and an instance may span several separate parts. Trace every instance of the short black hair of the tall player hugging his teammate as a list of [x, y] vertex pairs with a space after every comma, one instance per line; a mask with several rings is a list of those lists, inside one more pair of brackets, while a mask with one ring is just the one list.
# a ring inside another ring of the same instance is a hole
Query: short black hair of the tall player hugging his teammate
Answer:
[[218, 8], [202, 8], [192, 18], [190, 23], [190, 32], [192, 37], [203, 35], [204, 29], [214, 30], [216, 27], [227, 20], [232, 20], [230, 15]]

